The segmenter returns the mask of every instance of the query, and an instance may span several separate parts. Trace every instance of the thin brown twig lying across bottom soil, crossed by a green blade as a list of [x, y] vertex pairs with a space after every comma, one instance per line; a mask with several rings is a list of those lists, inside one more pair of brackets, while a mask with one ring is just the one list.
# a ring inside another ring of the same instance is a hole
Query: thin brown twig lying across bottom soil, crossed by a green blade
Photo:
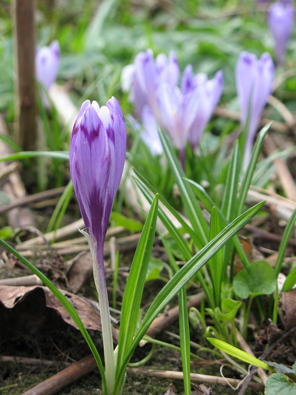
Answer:
[[[183, 380], [183, 372], [175, 372], [175, 371], [161, 371], [161, 370], [152, 370], [152, 369], [139, 369], [139, 368], [127, 368], [127, 371], [132, 374], [143, 374], [144, 376], [152, 376], [152, 377], [165, 377], [176, 380]], [[237, 386], [240, 384], [242, 380], [238, 380], [236, 378], [223, 378], [220, 376], [208, 376], [207, 374], [198, 374], [191, 373], [190, 374], [191, 381], [202, 382], [202, 383], [215, 383], [215, 384], [223, 384], [228, 385], [228, 383]], [[226, 381], [227, 380], [227, 381]], [[264, 386], [259, 383], [251, 382], [249, 386], [258, 390], [264, 389]]]

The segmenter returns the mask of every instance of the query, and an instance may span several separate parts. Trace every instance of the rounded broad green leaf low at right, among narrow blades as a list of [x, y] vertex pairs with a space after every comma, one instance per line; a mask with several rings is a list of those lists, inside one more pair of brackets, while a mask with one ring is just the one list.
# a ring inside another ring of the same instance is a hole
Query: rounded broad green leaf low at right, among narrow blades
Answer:
[[248, 269], [240, 271], [233, 280], [233, 289], [242, 299], [249, 296], [270, 295], [276, 287], [274, 269], [267, 261], [251, 263]]

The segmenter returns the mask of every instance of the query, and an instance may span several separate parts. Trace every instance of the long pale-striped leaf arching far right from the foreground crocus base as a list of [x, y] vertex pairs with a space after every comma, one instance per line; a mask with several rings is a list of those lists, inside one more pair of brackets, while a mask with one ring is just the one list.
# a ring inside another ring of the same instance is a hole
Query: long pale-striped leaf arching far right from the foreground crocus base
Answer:
[[208, 243], [202, 250], [200, 250], [193, 258], [191, 258], [175, 275], [169, 280], [169, 282], [159, 292], [150, 308], [146, 312], [142, 323], [135, 334], [131, 347], [125, 355], [122, 365], [119, 371], [116, 373], [114, 393], [120, 390], [121, 383], [126, 372], [126, 367], [131, 355], [135, 348], [139, 344], [142, 337], [145, 335], [147, 329], [151, 325], [154, 318], [161, 312], [161, 310], [169, 303], [169, 301], [187, 284], [187, 282], [195, 275], [206, 262], [212, 258], [212, 256], [227, 243], [245, 224], [253, 218], [253, 216], [261, 209], [264, 205], [264, 201], [258, 203], [251, 209], [247, 210], [244, 214], [236, 218], [229, 226], [215, 237], [210, 243]]

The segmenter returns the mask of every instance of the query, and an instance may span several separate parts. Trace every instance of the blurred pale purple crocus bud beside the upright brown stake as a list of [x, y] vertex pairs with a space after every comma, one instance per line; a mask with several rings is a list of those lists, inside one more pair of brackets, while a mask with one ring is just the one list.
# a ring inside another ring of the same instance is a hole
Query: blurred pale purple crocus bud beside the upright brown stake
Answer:
[[[49, 90], [56, 81], [60, 66], [60, 45], [57, 40], [52, 41], [48, 47], [42, 47], [36, 51], [35, 69], [37, 80]], [[43, 104], [48, 107], [48, 100], [41, 94]]]

